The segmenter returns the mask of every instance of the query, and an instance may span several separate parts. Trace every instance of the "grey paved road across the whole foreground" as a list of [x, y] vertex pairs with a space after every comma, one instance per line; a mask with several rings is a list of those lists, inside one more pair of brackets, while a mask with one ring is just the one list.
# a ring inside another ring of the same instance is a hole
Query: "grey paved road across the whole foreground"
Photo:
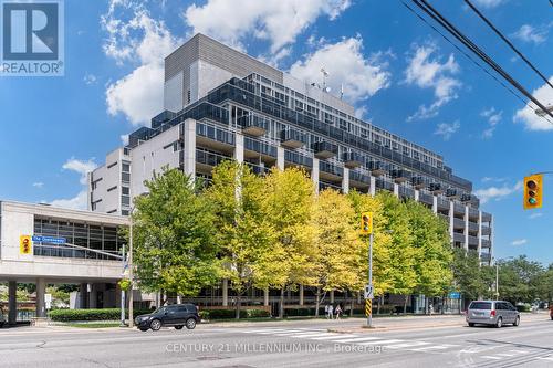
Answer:
[[1, 329], [0, 367], [553, 367], [553, 322], [544, 314], [501, 329], [469, 328], [457, 316], [382, 318], [373, 330], [358, 328], [363, 322], [229, 323], [158, 333]]

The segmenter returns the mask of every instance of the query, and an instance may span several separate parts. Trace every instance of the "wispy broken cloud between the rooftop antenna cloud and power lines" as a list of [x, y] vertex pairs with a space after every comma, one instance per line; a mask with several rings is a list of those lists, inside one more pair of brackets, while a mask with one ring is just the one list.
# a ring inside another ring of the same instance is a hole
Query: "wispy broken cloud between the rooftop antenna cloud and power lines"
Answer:
[[461, 86], [461, 82], [452, 77], [459, 72], [459, 64], [453, 54], [450, 54], [446, 62], [441, 62], [440, 57], [432, 57], [438, 50], [435, 44], [415, 48], [415, 53], [408, 56], [405, 82], [420, 88], [434, 88], [435, 101], [428, 106], [420, 105], [417, 112], [407, 118], [408, 122], [437, 116], [441, 106], [457, 98], [456, 90]]

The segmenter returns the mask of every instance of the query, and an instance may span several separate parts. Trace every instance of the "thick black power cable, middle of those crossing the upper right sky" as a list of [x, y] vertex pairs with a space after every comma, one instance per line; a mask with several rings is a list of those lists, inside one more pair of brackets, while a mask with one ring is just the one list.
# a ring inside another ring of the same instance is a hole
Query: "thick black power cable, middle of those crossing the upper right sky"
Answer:
[[451, 22], [449, 22], [439, 11], [432, 8], [426, 0], [411, 0], [417, 7], [419, 7], [424, 12], [430, 15], [436, 22], [444, 27], [450, 34], [452, 34], [457, 40], [459, 40], [467, 49], [472, 51], [478, 57], [480, 57], [484, 63], [491, 66], [499, 75], [501, 75], [507, 82], [519, 90], [524, 96], [531, 99], [535, 105], [543, 109], [547, 115], [553, 117], [553, 113], [549, 112], [547, 108], [538, 101], [531, 93], [529, 93], [519, 82], [517, 82], [509, 73], [507, 73], [500, 65], [498, 65], [486, 52], [483, 52], [479, 46], [477, 46], [469, 38], [462, 34]]

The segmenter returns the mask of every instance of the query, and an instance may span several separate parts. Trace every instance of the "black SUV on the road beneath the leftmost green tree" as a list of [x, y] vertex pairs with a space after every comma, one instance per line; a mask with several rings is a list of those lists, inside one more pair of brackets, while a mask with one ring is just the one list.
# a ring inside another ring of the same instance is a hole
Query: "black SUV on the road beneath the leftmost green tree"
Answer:
[[194, 329], [199, 322], [198, 308], [191, 303], [163, 306], [150, 314], [135, 318], [136, 327], [143, 332], [148, 328], [159, 330], [161, 326], [175, 326], [176, 329], [186, 326], [188, 329]]

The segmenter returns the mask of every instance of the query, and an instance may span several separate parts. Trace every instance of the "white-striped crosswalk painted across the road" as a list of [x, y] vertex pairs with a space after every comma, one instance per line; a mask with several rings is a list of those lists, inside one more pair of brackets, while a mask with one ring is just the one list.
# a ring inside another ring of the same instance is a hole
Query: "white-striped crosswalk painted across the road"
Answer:
[[398, 338], [387, 338], [367, 336], [367, 334], [340, 334], [331, 333], [326, 329], [312, 328], [263, 328], [263, 329], [239, 329], [244, 334], [270, 335], [276, 337], [290, 337], [333, 344], [354, 344], [358, 346], [379, 346], [382, 349], [411, 350], [411, 351], [444, 351], [456, 348], [453, 344], [437, 344], [424, 340], [407, 340]]

